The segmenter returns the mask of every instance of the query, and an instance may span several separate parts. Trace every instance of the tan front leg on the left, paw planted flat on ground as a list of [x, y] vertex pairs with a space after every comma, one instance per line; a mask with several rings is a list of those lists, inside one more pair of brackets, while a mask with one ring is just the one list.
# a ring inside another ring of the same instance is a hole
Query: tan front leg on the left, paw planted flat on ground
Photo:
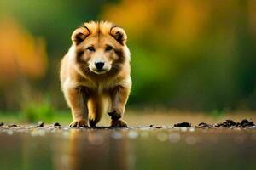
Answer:
[[67, 88], [64, 90], [67, 104], [71, 108], [73, 122], [70, 127], [87, 127], [88, 125], [88, 109], [85, 105], [85, 93], [83, 88]]

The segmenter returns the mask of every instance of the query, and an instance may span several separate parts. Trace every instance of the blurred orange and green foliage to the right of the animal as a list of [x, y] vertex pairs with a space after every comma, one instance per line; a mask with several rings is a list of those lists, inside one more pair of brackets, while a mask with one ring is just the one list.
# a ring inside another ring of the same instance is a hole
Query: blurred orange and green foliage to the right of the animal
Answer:
[[129, 35], [131, 102], [255, 109], [255, 11], [253, 0], [125, 0], [101, 16]]

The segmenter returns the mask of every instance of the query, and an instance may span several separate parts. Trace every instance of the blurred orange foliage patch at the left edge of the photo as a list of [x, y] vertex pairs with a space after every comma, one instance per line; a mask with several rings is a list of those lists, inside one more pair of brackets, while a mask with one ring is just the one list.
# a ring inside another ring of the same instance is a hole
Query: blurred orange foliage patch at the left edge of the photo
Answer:
[[8, 88], [9, 82], [24, 77], [43, 77], [47, 69], [44, 40], [32, 37], [14, 20], [0, 22], [0, 86]]

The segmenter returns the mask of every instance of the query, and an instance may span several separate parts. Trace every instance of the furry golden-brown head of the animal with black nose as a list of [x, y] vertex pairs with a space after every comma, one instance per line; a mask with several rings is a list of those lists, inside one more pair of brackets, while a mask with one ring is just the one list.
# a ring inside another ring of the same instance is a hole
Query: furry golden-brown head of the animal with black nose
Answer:
[[130, 53], [125, 45], [126, 34], [109, 22], [87, 22], [72, 34], [76, 61], [86, 71], [104, 74], [119, 69]]

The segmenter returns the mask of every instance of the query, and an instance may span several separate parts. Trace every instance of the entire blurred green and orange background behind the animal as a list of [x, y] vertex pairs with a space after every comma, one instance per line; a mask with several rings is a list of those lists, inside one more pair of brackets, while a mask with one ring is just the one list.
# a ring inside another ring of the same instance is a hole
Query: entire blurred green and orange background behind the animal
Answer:
[[112, 21], [128, 35], [128, 108], [256, 109], [254, 0], [1, 0], [1, 111], [67, 110], [60, 61], [89, 20]]

